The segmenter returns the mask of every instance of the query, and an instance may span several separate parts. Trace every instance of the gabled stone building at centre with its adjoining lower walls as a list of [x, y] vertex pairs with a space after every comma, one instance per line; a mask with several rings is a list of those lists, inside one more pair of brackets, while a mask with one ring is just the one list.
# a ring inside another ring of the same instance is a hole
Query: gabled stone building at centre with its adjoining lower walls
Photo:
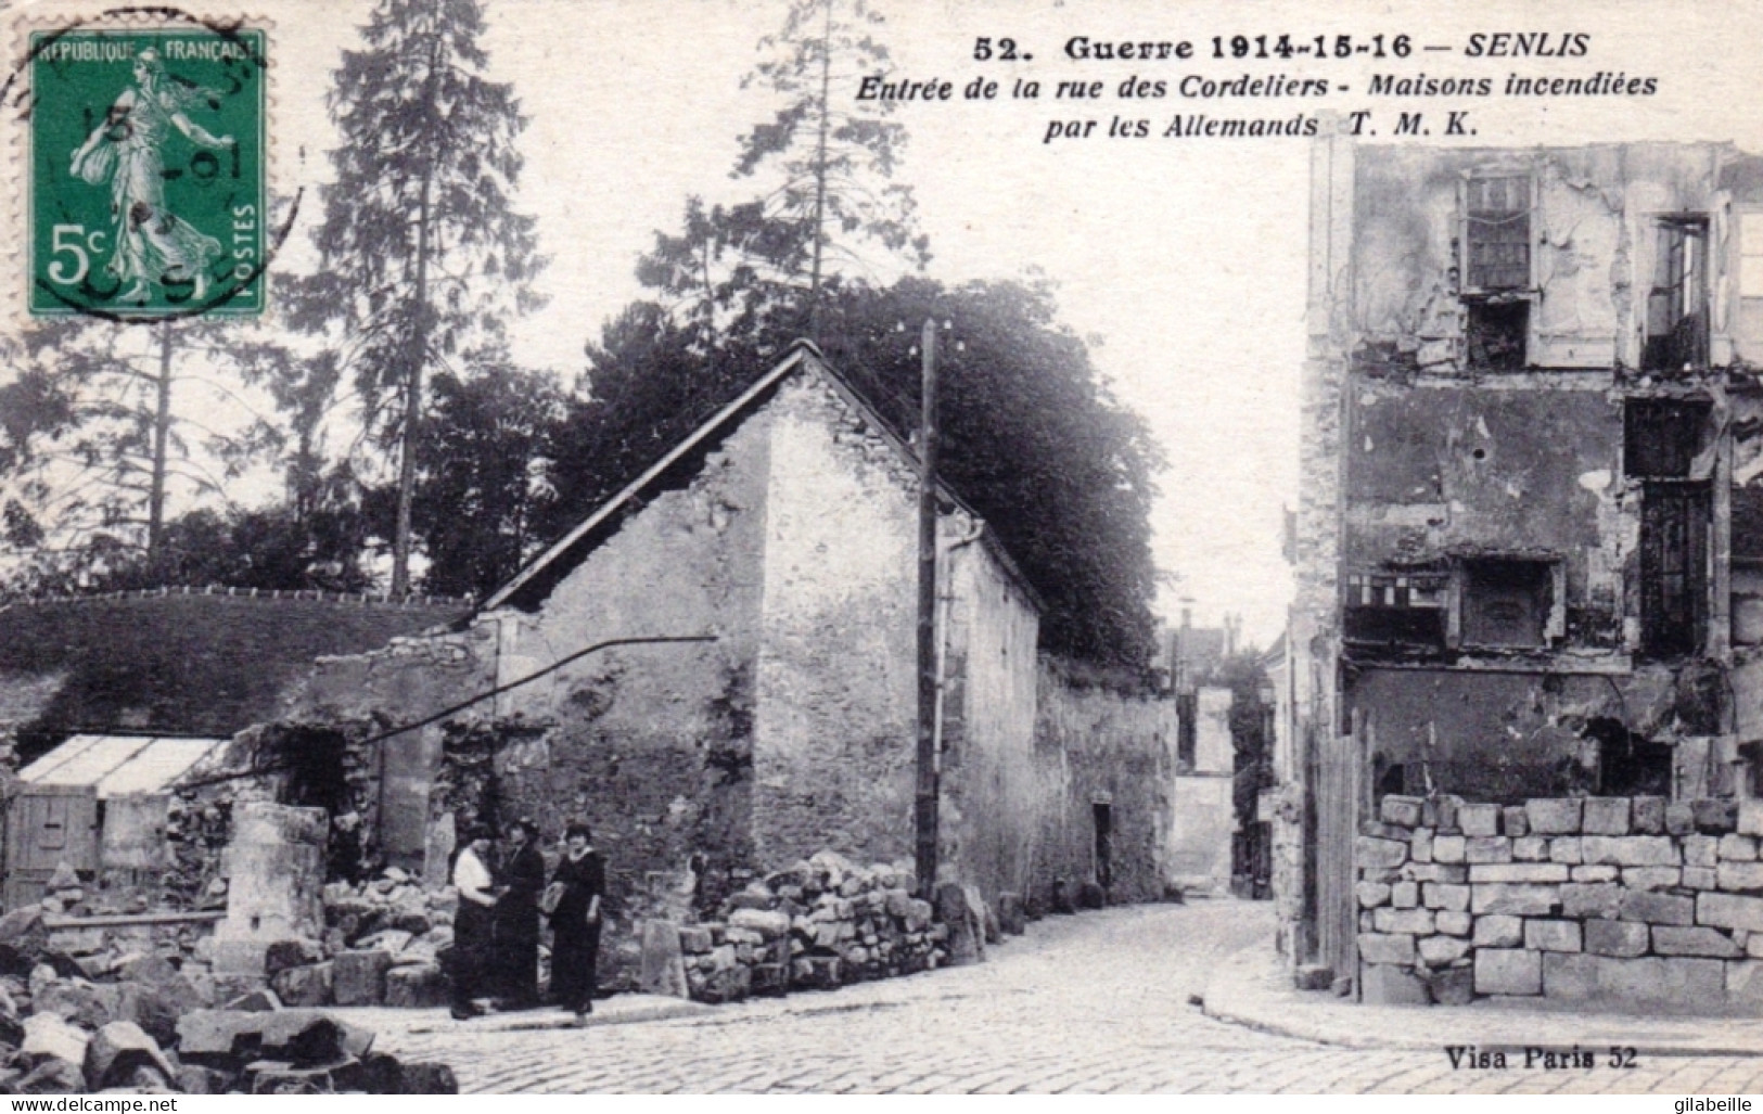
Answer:
[[[321, 661], [266, 732], [342, 753], [331, 807], [435, 880], [464, 818], [532, 816], [547, 837], [587, 818], [612, 867], [614, 968], [635, 959], [631, 922], [820, 850], [910, 862], [915, 467], [797, 345], [455, 631]], [[943, 873], [987, 901], [1045, 904], [1054, 883], [1160, 897], [1172, 702], [1042, 659], [1035, 590], [957, 494], [941, 511]], [[710, 640], [566, 661], [656, 636]]]

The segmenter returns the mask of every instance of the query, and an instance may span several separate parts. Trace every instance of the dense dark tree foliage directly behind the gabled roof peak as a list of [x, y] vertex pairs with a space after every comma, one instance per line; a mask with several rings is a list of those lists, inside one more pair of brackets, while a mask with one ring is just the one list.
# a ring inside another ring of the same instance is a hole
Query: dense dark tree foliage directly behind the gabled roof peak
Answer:
[[[1042, 645], [1144, 666], [1157, 590], [1149, 508], [1162, 467], [1149, 430], [1058, 324], [1045, 284], [832, 284], [822, 347], [897, 432], [917, 423], [911, 345], [926, 317], [948, 323], [943, 478], [1040, 592]], [[571, 407], [559, 437], [550, 529], [585, 515], [769, 370], [793, 338], [786, 330], [786, 316], [762, 319], [751, 338], [700, 353], [691, 330], [656, 305], [610, 323], [587, 349], [591, 398]]]

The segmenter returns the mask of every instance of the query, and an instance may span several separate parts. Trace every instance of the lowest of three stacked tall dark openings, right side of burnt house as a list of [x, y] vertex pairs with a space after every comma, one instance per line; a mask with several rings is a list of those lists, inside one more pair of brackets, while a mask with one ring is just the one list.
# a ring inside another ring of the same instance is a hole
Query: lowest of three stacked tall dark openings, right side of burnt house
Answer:
[[1648, 481], [1641, 492], [1641, 652], [1701, 650], [1708, 594], [1708, 486]]

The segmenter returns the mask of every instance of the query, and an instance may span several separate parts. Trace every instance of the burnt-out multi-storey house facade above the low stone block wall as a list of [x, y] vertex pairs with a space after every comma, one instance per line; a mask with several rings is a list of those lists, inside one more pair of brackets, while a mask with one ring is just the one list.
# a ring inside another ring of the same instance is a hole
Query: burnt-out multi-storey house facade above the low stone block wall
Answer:
[[1312, 159], [1276, 888], [1340, 973], [1386, 795], [1763, 795], [1763, 159]]

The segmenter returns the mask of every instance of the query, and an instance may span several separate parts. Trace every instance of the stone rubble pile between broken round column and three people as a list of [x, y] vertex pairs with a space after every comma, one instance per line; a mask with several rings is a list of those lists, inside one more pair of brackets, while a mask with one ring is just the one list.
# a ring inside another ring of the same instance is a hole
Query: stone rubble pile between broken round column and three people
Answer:
[[264, 973], [291, 1006], [435, 1006], [448, 1001], [437, 955], [453, 943], [453, 890], [425, 890], [398, 867], [324, 887], [323, 939], [270, 945]]

